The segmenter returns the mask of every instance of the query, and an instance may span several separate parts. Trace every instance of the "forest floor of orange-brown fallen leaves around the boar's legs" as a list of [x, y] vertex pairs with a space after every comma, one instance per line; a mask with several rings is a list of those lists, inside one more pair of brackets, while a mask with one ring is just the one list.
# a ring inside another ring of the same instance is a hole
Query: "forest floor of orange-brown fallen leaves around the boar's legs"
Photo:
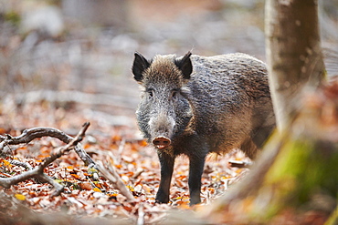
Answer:
[[[53, 187], [50, 184], [26, 179], [9, 189], [0, 188], [1, 196], [9, 197], [13, 204], [19, 204], [32, 213], [34, 211], [46, 215], [62, 212], [64, 215], [71, 215], [70, 218], [73, 219], [119, 219], [121, 222], [132, 224], [136, 221], [164, 221], [168, 210], [195, 209], [188, 205], [188, 159], [184, 156], [175, 161], [170, 203], [154, 202], [160, 181], [159, 162], [155, 149], [148, 147], [140, 138], [137, 128], [111, 126], [104, 118], [90, 118], [76, 109], [65, 110], [48, 102], [26, 104], [11, 111], [5, 110], [5, 107], [2, 106], [0, 114], [0, 124], [3, 125], [0, 134], [3, 136], [10, 134], [16, 137], [24, 129], [39, 127], [42, 124], [48, 124], [51, 128], [58, 128], [74, 136], [82, 124], [89, 121], [90, 128], [81, 142], [83, 148], [95, 162], [110, 164], [134, 197], [134, 201], [127, 201], [109, 180], [103, 177], [94, 180], [90, 169], [75, 151], [70, 151], [45, 169], [49, 177], [64, 185], [64, 192], [52, 197]], [[48, 158], [54, 149], [62, 145], [64, 144], [58, 139], [47, 137], [35, 139], [28, 144], [11, 146], [11, 155], [0, 159], [0, 177], [11, 178], [26, 171], [25, 168], [12, 164], [13, 159], [35, 168]], [[229, 159], [249, 160], [240, 151], [224, 156], [209, 156], [202, 178], [201, 205], [222, 195], [228, 186], [248, 171], [229, 167]], [[0, 218], [7, 222], [5, 224], [21, 224], [20, 222], [27, 220], [29, 213], [27, 214], [26, 210], [17, 210], [17, 206], [13, 204], [9, 206], [3, 198], [0, 198], [0, 201]]]

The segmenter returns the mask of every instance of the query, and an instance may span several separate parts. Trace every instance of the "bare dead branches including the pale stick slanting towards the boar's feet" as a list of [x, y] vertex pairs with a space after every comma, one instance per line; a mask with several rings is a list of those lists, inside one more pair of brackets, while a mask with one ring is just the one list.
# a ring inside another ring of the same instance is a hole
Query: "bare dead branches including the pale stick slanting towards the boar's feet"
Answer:
[[79, 130], [78, 135], [75, 138], [70, 137], [66, 133], [56, 128], [30, 128], [23, 131], [23, 133], [18, 137], [12, 137], [10, 135], [0, 136], [0, 154], [5, 154], [5, 147], [11, 145], [18, 145], [29, 143], [35, 138], [42, 138], [42, 137], [51, 137], [51, 138], [58, 138], [59, 140], [67, 143], [66, 146], [59, 148], [57, 152], [52, 154], [50, 157], [45, 159], [37, 168], [32, 169], [30, 165], [26, 165], [26, 163], [19, 162], [17, 160], [12, 160], [11, 163], [15, 164], [16, 166], [24, 167], [27, 169], [26, 172], [19, 174], [15, 177], [9, 178], [0, 178], [0, 186], [8, 189], [12, 185], [20, 181], [24, 181], [30, 178], [36, 178], [43, 182], [48, 182], [51, 184], [55, 190], [53, 196], [57, 196], [60, 192], [63, 191], [63, 186], [60, 185], [58, 182], [54, 181], [46, 175], [43, 171], [45, 168], [48, 167], [50, 163], [55, 161], [56, 159], [60, 158], [69, 150], [74, 149], [76, 153], [79, 155], [79, 158], [84, 161], [86, 166], [89, 166], [89, 171], [93, 175], [93, 179], [99, 179], [98, 170], [100, 170], [101, 175], [106, 179], [110, 180], [111, 183], [114, 185], [116, 189], [121, 191], [121, 194], [124, 195], [127, 200], [132, 201], [134, 198], [132, 196], [131, 191], [124, 186], [123, 181], [121, 180], [118, 173], [112, 168], [108, 167], [105, 169], [102, 163], [97, 164], [95, 163], [87, 152], [81, 147], [80, 141], [84, 138], [85, 132], [87, 128], [89, 128], [90, 123], [87, 122], [83, 125], [83, 127]]

